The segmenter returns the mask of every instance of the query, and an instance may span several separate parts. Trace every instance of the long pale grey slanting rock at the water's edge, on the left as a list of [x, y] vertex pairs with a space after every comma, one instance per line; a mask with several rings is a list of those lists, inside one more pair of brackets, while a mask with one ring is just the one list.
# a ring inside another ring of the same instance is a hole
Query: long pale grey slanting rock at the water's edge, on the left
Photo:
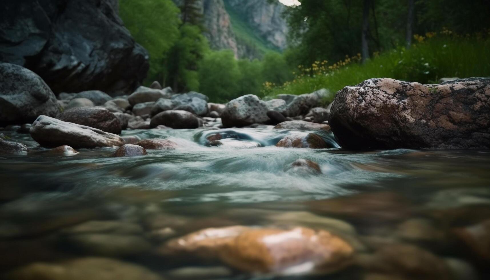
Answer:
[[69, 145], [74, 148], [95, 148], [124, 144], [123, 139], [116, 134], [44, 115], [34, 121], [30, 134], [35, 141], [46, 147]]

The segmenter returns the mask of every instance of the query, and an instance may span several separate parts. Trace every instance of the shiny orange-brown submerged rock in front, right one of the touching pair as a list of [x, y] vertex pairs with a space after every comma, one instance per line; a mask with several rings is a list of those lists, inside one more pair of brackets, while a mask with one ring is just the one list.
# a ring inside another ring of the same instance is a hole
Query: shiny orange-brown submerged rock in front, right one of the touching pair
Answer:
[[332, 273], [352, 264], [352, 247], [326, 230], [250, 229], [224, 245], [221, 259], [248, 272]]

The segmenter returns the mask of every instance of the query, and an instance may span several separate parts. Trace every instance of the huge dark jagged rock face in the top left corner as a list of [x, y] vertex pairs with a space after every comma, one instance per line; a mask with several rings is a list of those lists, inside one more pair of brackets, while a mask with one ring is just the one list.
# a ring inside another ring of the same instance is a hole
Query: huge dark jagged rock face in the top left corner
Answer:
[[148, 54], [124, 28], [113, 0], [5, 0], [0, 61], [40, 75], [55, 92], [132, 92]]

